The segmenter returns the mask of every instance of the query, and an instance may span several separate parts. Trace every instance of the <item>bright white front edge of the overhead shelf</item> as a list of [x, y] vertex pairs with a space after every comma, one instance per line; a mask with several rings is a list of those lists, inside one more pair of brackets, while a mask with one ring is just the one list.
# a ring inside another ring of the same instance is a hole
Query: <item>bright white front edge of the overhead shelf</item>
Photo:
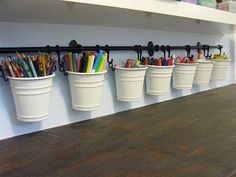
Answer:
[[63, 0], [236, 25], [236, 14], [175, 0]]

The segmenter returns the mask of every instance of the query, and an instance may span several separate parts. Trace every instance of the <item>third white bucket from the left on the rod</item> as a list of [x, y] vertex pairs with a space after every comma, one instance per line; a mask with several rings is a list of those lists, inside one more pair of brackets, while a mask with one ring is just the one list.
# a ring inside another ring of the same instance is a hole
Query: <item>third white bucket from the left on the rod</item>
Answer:
[[132, 102], [142, 98], [143, 82], [147, 67], [116, 68], [116, 94], [120, 101]]

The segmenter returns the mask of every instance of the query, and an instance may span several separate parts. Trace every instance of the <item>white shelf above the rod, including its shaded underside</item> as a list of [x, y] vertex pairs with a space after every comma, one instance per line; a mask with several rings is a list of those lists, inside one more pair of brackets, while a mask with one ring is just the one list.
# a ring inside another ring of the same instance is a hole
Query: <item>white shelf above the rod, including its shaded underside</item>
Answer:
[[236, 14], [174, 0], [76, 2], [78, 3], [61, 0], [0, 0], [0, 21], [128, 27], [203, 34], [231, 33], [232, 25], [236, 24]]

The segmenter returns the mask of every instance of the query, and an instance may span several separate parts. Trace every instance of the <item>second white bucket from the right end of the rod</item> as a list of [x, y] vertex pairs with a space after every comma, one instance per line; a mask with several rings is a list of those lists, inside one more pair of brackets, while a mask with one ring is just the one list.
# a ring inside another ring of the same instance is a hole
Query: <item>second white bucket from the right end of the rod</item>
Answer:
[[208, 85], [211, 79], [214, 61], [199, 61], [194, 77], [194, 85]]

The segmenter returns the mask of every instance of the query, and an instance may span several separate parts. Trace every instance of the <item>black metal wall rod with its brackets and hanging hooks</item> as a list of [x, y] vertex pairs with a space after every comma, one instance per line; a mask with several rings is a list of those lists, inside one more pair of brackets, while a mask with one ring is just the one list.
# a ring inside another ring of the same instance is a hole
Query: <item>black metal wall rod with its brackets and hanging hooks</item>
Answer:
[[[221, 45], [201, 45], [200, 42], [197, 43], [196, 46], [165, 46], [165, 45], [154, 45], [152, 41], [149, 41], [147, 46], [142, 46], [142, 45], [133, 45], [133, 46], [82, 46], [78, 44], [75, 40], [72, 40], [69, 44], [69, 46], [45, 46], [45, 47], [0, 47], [0, 54], [10, 54], [10, 53], [36, 53], [36, 52], [55, 52], [58, 55], [58, 65], [59, 65], [59, 70], [64, 72], [66, 75], [65, 71], [65, 66], [63, 64], [63, 61], [61, 60], [60, 53], [61, 52], [85, 52], [85, 51], [97, 51], [99, 50], [104, 50], [108, 53], [107, 57], [107, 62], [108, 66], [114, 70], [113, 67], [113, 59], [109, 59], [109, 53], [110, 51], [135, 51], [137, 53], [137, 58], [141, 59], [142, 58], [142, 51], [147, 51], [149, 56], [153, 56], [155, 52], [162, 51], [164, 54], [164, 57], [166, 57], [166, 51], [168, 52], [168, 57], [170, 57], [170, 52], [172, 50], [185, 50], [187, 51], [187, 56], [188, 57], [193, 57], [193, 55], [190, 55], [190, 51], [192, 49], [203, 49], [204, 53], [207, 51], [207, 54], [209, 54], [210, 49], [219, 49], [220, 54], [223, 46]], [[0, 68], [0, 71], [2, 69]], [[3, 75], [4, 73], [2, 73]]]

